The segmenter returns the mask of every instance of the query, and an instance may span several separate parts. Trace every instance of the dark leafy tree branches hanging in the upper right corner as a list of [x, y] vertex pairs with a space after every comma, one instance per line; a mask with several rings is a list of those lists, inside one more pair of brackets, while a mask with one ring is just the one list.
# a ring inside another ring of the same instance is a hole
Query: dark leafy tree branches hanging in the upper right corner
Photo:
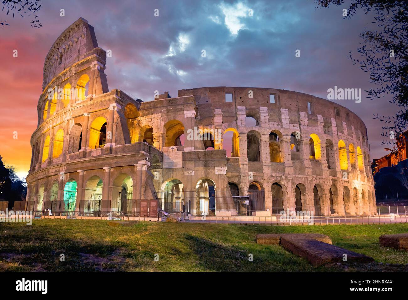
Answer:
[[384, 123], [381, 134], [390, 136], [382, 144], [394, 144], [393, 136], [406, 130], [408, 125], [408, 1], [407, 0], [315, 0], [318, 7], [348, 5], [345, 19], [356, 17], [357, 11], [373, 14], [373, 28], [365, 28], [359, 34], [360, 58], [349, 58], [360, 69], [370, 74], [371, 88], [368, 99], [392, 96], [391, 104], [398, 107], [394, 116], [374, 114]]

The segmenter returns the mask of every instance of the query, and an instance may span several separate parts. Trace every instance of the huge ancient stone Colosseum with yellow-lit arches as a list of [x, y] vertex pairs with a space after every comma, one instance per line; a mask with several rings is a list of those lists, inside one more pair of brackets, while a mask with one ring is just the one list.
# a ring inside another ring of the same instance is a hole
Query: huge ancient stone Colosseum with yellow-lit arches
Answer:
[[46, 56], [27, 176], [31, 209], [376, 213], [367, 130], [345, 107], [251, 87], [182, 89], [175, 98], [152, 91], [144, 102], [109, 90], [106, 54], [80, 18]]

